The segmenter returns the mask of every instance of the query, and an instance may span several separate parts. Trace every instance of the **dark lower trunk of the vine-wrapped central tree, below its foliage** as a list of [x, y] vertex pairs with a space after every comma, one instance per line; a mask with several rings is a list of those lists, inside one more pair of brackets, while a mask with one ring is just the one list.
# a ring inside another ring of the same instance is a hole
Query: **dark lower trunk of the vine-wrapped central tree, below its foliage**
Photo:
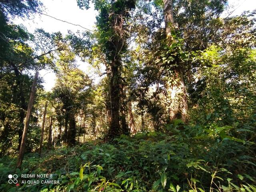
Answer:
[[120, 74], [119, 68], [120, 62], [116, 61], [111, 66], [111, 78], [110, 78], [110, 108], [111, 108], [111, 119], [110, 119], [110, 138], [120, 135], [120, 124], [119, 124], [119, 109], [120, 109]]

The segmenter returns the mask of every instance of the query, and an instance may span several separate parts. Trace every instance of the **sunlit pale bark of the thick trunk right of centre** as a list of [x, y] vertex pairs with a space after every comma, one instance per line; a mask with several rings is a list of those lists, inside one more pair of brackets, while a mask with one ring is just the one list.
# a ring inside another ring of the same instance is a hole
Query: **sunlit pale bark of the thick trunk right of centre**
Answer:
[[[174, 30], [173, 20], [173, 2], [172, 0], [164, 0], [164, 21], [166, 29], [166, 37], [170, 46], [174, 39], [172, 30]], [[167, 85], [168, 98], [170, 98], [169, 114], [170, 120], [176, 118], [187, 122], [187, 101], [186, 101], [186, 86], [183, 80], [182, 66], [177, 66], [173, 69], [173, 74], [170, 76], [172, 80]]]

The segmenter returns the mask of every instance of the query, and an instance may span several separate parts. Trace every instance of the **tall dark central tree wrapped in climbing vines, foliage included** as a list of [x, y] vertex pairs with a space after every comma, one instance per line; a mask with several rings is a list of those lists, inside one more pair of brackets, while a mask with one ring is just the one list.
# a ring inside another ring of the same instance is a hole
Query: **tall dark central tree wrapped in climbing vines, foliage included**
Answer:
[[[77, 0], [80, 8], [88, 8], [88, 0]], [[110, 129], [109, 136], [115, 137], [120, 130], [121, 68], [122, 54], [127, 50], [130, 11], [135, 8], [135, 0], [101, 1], [94, 0], [94, 8], [99, 12], [97, 18], [97, 38], [99, 49], [104, 54], [106, 68], [109, 70]]]

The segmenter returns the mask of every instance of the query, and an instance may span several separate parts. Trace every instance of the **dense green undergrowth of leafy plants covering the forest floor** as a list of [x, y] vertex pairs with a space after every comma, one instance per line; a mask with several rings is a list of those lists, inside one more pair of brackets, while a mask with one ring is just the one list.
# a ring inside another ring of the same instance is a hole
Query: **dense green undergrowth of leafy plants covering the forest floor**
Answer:
[[[122, 135], [112, 142], [57, 146], [42, 157], [28, 153], [22, 170], [15, 170], [16, 158], [4, 157], [0, 191], [256, 191], [252, 144], [199, 134], [196, 126], [176, 128]], [[8, 183], [8, 174], [14, 173], [18, 186]]]

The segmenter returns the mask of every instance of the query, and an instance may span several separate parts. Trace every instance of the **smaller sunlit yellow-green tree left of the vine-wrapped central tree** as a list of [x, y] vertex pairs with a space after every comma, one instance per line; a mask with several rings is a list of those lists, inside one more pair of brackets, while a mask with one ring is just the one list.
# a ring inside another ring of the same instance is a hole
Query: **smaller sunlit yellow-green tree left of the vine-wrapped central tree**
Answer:
[[62, 102], [62, 116], [65, 119], [64, 141], [73, 145], [76, 142], [76, 114], [84, 103], [90, 102], [91, 80], [76, 68], [72, 52], [62, 51], [57, 66], [53, 97], [57, 102]]

